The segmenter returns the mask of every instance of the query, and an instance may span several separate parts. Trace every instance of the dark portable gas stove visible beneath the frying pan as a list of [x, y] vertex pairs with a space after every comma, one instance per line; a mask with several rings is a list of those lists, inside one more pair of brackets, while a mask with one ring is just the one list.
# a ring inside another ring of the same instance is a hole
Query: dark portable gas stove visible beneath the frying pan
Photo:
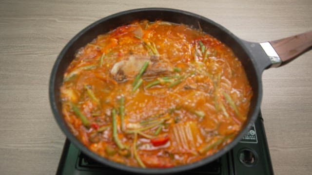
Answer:
[[[87, 157], [66, 139], [57, 175], [129, 175]], [[177, 175], [273, 175], [261, 112], [246, 136], [215, 161]]]

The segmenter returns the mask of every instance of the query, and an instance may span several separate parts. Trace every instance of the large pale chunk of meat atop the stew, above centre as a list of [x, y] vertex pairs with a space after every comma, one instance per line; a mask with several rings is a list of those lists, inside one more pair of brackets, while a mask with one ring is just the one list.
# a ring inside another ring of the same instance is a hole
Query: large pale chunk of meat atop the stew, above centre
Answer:
[[126, 60], [115, 63], [110, 73], [117, 82], [124, 82], [135, 78], [146, 61], [149, 62], [149, 66], [143, 74], [144, 77], [170, 74], [173, 71], [169, 60], [160, 59], [159, 56], [130, 55]]

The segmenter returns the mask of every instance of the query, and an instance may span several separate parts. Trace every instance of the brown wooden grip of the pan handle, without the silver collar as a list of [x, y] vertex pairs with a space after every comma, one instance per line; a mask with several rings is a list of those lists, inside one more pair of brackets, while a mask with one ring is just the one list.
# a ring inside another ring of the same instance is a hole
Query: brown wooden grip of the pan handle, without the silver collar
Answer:
[[312, 31], [269, 42], [282, 61], [280, 66], [283, 66], [312, 49]]

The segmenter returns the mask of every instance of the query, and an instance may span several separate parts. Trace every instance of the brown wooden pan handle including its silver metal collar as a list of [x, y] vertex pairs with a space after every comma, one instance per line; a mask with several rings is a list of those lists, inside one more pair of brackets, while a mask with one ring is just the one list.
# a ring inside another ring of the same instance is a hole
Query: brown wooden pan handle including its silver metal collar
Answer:
[[312, 49], [312, 31], [260, 45], [271, 60], [271, 67], [280, 67]]

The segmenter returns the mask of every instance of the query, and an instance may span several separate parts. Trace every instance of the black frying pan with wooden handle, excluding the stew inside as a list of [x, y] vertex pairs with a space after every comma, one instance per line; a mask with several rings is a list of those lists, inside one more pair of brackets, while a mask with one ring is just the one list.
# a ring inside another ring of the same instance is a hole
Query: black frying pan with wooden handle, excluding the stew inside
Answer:
[[[63, 82], [63, 74], [71, 61], [74, 59], [76, 51], [79, 48], [85, 46], [87, 43], [91, 42], [100, 34], [107, 33], [118, 26], [129, 24], [134, 20], [143, 19], [148, 19], [150, 21], [161, 19], [173, 23], [187, 24], [195, 28], [199, 28], [200, 26], [205, 33], [216, 37], [227, 46], [232, 48], [235, 55], [242, 62], [242, 65], [247, 73], [250, 85], [254, 91], [254, 96], [251, 99], [248, 119], [243, 125], [242, 130], [237, 135], [237, 137], [214, 155], [206, 157], [195, 163], [177, 166], [174, 168], [135, 168], [110, 161], [91, 152], [87, 147], [80, 143], [78, 139], [76, 139], [76, 137], [70, 132], [69, 128], [67, 127], [61, 112], [62, 110], [61, 101], [59, 98], [59, 88]], [[89, 25], [81, 32], [79, 32], [76, 36], [74, 36], [73, 39], [68, 42], [68, 44], [64, 47], [61, 53], [59, 53], [59, 56], [51, 72], [49, 85], [50, 104], [55, 119], [58, 122], [59, 127], [65, 133], [66, 137], [72, 143], [74, 143], [83, 153], [97, 160], [98, 162], [120, 170], [135, 173], [168, 174], [181, 172], [207, 164], [231, 150], [243, 138], [247, 131], [249, 131], [249, 128], [255, 122], [258, 116], [262, 98], [261, 74], [263, 70], [270, 67], [278, 67], [284, 65], [298, 55], [311, 50], [311, 48], [312, 31], [277, 41], [266, 43], [253, 43], [239, 39], [230, 31], [215, 23], [214, 21], [193, 13], [166, 8], [143, 8], [129, 10], [96, 21], [95, 23]]]

